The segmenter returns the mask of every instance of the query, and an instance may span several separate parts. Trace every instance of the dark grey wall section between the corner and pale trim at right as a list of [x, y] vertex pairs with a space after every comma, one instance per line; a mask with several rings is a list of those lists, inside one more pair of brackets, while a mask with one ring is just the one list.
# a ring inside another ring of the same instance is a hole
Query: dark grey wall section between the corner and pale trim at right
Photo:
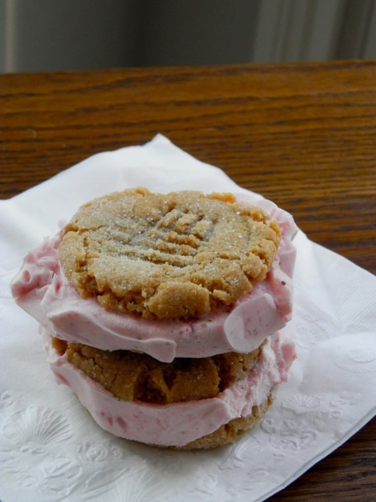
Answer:
[[249, 62], [262, 1], [141, 2], [136, 65]]

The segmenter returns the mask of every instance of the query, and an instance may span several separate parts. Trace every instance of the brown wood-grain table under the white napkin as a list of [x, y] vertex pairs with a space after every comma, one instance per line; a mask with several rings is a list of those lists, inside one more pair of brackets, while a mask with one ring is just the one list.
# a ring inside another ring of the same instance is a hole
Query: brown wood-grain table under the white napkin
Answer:
[[[376, 61], [1, 75], [1, 196], [156, 133], [376, 272]], [[375, 490], [373, 419], [271, 500]]]

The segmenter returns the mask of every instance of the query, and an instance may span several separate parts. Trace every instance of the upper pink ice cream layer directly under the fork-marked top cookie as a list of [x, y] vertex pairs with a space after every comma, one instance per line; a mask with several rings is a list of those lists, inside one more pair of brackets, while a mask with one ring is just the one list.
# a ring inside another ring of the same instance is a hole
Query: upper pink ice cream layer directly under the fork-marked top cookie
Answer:
[[137, 350], [170, 362], [175, 357], [207, 357], [251, 352], [285, 326], [292, 311], [292, 275], [296, 225], [290, 214], [252, 194], [238, 200], [262, 206], [281, 227], [282, 239], [272, 269], [230, 309], [199, 318], [148, 320], [104, 309], [95, 298], [83, 299], [59, 264], [60, 234], [26, 256], [12, 282], [17, 303], [53, 336], [103, 350]]

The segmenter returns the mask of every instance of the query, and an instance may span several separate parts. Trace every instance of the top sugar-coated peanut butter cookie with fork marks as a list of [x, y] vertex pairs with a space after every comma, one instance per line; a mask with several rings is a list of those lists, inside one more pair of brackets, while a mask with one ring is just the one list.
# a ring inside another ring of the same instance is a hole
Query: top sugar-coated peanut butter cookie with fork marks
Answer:
[[250, 291], [279, 241], [278, 223], [232, 194], [136, 188], [84, 204], [64, 229], [59, 259], [82, 297], [173, 319]]

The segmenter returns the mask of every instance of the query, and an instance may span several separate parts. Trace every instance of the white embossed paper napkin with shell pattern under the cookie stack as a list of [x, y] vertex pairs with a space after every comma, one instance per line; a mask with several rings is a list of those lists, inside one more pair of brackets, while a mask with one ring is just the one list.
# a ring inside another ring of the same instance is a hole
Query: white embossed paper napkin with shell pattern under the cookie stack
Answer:
[[37, 322], [16, 306], [9, 283], [27, 249], [55, 234], [59, 220], [87, 200], [133, 186], [243, 191], [158, 135], [0, 201], [2, 502], [260, 501], [375, 415], [376, 279], [299, 231], [294, 315], [285, 328], [298, 358], [257, 429], [234, 445], [190, 452], [101, 430], [70, 389], [56, 385]]

